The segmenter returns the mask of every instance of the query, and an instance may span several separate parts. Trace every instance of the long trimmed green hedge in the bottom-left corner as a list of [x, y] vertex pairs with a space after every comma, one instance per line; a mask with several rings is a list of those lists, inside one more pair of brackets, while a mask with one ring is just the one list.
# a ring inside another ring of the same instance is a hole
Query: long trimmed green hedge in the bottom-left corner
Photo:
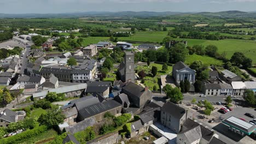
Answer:
[[17, 135], [11, 136], [11, 137], [7, 137], [5, 139], [1, 139], [0, 143], [1, 144], [17, 143], [20, 140], [28, 139], [33, 136], [37, 136], [46, 130], [47, 130], [47, 127], [45, 125], [41, 125], [40, 127], [36, 127], [34, 129], [28, 129], [20, 134], [17, 134]]

